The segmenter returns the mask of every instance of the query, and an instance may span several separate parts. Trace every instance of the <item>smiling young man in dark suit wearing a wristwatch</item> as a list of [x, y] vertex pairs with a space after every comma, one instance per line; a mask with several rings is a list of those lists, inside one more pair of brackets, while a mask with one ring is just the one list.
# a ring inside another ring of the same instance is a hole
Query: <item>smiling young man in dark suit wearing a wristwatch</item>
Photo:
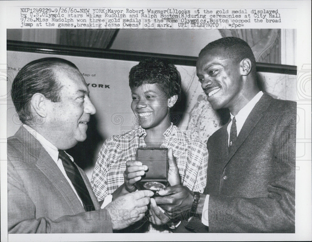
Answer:
[[[196, 70], [212, 108], [228, 108], [231, 118], [208, 139], [204, 193], [176, 185], [159, 191], [156, 203], [171, 218], [196, 215], [184, 223], [188, 231], [294, 233], [296, 103], [258, 89], [255, 57], [239, 38], [209, 43]], [[154, 221], [165, 221], [152, 208]]]

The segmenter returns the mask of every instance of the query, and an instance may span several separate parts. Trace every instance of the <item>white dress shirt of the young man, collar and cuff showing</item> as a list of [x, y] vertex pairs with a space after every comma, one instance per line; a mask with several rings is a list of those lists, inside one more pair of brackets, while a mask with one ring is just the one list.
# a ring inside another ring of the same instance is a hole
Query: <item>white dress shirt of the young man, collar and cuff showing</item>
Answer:
[[[236, 119], [236, 130], [237, 130], [237, 136], [239, 132], [241, 131], [241, 128], [243, 127], [248, 115], [250, 114], [251, 110], [255, 107], [256, 103], [260, 100], [262, 97], [263, 92], [260, 91], [254, 96], [239, 112], [235, 115]], [[230, 130], [232, 125], [232, 120], [234, 115], [230, 113], [231, 115], [231, 122], [227, 125], [227, 133], [228, 133], [228, 145], [230, 144]], [[206, 195], [204, 206], [202, 208], [202, 223], [206, 226], [209, 226], [208, 221], [208, 204], [209, 204], [209, 194]]]

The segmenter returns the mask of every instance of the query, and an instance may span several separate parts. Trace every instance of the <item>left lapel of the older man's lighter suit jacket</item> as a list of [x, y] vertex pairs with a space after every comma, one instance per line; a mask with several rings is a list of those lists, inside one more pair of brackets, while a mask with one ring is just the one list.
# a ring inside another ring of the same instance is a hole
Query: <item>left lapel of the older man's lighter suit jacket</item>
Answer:
[[40, 142], [23, 127], [18, 130], [17, 135], [24, 147], [26, 147], [28, 154], [33, 157], [35, 166], [46, 176], [66, 200], [69, 209], [71, 209], [71, 213], [77, 214], [84, 212], [84, 208], [65, 176]]

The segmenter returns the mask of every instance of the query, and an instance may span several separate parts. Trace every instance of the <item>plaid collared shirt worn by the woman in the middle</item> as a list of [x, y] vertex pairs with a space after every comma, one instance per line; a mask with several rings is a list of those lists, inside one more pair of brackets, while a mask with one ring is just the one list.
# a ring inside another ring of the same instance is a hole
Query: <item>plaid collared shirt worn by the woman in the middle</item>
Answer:
[[[135, 157], [136, 148], [144, 148], [145, 130], [139, 126], [122, 135], [113, 135], [103, 144], [92, 174], [91, 186], [97, 199], [103, 200], [124, 183], [126, 161]], [[207, 177], [207, 148], [190, 139], [178, 127], [163, 133], [162, 148], [172, 148], [182, 184], [192, 191], [203, 192]], [[164, 231], [163, 231], [164, 232]]]

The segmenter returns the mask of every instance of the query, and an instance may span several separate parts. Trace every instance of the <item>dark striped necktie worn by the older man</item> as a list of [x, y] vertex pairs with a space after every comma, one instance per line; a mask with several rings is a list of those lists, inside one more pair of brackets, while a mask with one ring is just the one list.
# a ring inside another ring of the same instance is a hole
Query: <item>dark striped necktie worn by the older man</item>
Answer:
[[76, 189], [76, 192], [83, 203], [85, 211], [95, 210], [89, 191], [76, 165], [71, 161], [64, 150], [59, 150], [59, 159], [62, 160], [66, 174]]

